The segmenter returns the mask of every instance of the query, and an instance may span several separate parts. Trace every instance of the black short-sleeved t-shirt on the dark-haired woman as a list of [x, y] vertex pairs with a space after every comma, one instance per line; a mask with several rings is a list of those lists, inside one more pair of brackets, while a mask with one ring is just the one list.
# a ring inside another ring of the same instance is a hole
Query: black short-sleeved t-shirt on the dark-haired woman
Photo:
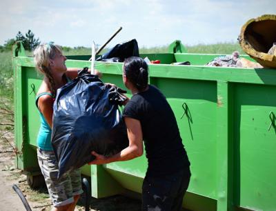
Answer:
[[150, 85], [148, 90], [134, 94], [126, 104], [123, 116], [141, 123], [148, 158], [147, 174], [170, 174], [190, 165], [175, 114], [155, 86]]

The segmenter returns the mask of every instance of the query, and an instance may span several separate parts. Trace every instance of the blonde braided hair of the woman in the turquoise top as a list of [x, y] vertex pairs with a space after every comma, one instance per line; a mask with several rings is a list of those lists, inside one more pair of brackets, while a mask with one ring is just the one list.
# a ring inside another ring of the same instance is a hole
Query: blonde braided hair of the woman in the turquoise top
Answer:
[[56, 96], [57, 90], [55, 89], [55, 80], [50, 72], [50, 59], [54, 59], [58, 52], [61, 52], [61, 48], [53, 43], [41, 44], [34, 50], [34, 64], [37, 70], [48, 78], [53, 97]]

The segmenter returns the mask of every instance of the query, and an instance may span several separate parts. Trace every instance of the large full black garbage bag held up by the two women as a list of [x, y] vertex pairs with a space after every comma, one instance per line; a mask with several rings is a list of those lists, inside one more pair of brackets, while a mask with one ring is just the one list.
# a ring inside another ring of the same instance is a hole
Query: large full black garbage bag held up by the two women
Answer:
[[95, 159], [92, 150], [110, 156], [126, 148], [126, 125], [118, 108], [125, 97], [119, 91], [85, 70], [57, 91], [52, 146], [59, 178]]

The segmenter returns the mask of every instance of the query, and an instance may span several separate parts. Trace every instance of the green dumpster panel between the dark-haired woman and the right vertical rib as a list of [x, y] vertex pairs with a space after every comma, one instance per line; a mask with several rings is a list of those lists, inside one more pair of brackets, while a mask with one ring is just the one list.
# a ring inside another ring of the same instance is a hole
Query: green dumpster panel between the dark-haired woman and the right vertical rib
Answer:
[[191, 163], [188, 190], [216, 199], [217, 83], [157, 77], [150, 81], [162, 90], [175, 113]]

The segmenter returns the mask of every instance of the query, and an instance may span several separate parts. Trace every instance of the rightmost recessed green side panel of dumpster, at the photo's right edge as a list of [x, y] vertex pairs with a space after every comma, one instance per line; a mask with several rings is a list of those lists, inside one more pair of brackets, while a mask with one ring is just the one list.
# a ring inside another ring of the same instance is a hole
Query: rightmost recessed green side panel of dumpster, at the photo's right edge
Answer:
[[275, 93], [275, 86], [235, 86], [235, 203], [242, 208], [276, 210]]

